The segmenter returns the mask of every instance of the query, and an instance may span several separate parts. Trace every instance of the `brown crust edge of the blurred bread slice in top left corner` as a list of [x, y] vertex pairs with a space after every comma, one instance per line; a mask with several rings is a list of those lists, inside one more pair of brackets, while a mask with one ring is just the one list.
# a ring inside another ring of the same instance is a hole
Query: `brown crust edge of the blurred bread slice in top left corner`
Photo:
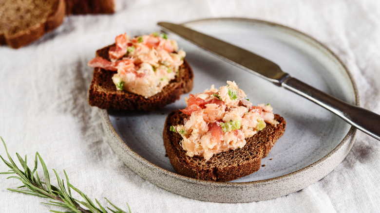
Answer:
[[3, 34], [0, 33], [0, 44], [7, 44], [17, 49], [38, 40], [46, 33], [56, 29], [62, 24], [63, 18], [65, 17], [64, 0], [57, 0], [53, 8], [51, 14], [44, 22], [30, 26], [16, 34], [8, 34], [7, 32], [3, 32]]

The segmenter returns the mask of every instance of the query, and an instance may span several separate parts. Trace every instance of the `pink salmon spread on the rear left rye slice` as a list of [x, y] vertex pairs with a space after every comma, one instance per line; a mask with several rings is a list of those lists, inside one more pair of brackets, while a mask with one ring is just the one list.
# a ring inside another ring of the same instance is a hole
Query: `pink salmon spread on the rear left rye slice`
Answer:
[[109, 59], [95, 57], [90, 67], [117, 71], [112, 77], [117, 90], [126, 90], [145, 98], [160, 92], [175, 78], [186, 53], [175, 40], [152, 33], [130, 38], [125, 33], [115, 38]]

